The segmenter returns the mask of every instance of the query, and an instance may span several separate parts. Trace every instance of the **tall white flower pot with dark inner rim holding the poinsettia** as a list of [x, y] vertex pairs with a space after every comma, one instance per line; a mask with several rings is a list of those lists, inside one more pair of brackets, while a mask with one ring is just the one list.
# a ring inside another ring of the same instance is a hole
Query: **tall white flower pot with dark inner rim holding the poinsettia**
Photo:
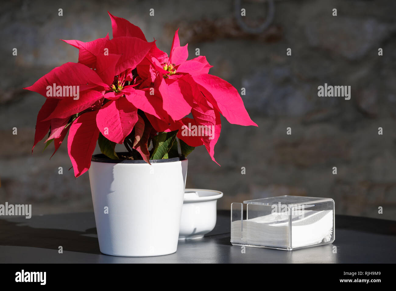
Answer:
[[100, 251], [147, 257], [177, 249], [188, 161], [92, 156], [89, 182]]

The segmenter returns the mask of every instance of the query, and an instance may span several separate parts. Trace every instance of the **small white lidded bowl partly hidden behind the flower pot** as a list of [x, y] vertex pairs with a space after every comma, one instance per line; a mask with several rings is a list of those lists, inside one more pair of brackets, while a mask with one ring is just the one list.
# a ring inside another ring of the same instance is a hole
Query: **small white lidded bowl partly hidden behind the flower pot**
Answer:
[[216, 225], [217, 199], [223, 192], [206, 189], [185, 189], [181, 211], [179, 240], [203, 238]]

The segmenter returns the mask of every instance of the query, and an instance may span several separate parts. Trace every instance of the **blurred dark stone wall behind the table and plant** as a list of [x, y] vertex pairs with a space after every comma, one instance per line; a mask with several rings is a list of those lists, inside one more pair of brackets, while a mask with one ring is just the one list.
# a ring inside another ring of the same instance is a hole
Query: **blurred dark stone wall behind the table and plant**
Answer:
[[[338, 214], [396, 219], [394, 0], [275, 1], [270, 25], [253, 34], [236, 21], [231, 0], [17, 0], [0, 5], [0, 203], [32, 204], [33, 215], [93, 211], [88, 173], [75, 179], [68, 171], [66, 141], [51, 160], [52, 146], [42, 152], [44, 144], [39, 144], [31, 154], [44, 97], [22, 87], [78, 60], [78, 50], [59, 39], [90, 41], [107, 32], [111, 37], [109, 10], [141, 27], [167, 52], [180, 27], [189, 59], [199, 48], [214, 66], [209, 73], [246, 89], [242, 98], [259, 128], [231, 125], [223, 118], [215, 147], [221, 167], [204, 147], [196, 148], [188, 157], [188, 188], [223, 191], [218, 202], [223, 209], [247, 199], [317, 196], [333, 198]], [[241, 7], [248, 27], [270, 17], [263, 1], [242, 2]], [[325, 83], [351, 86], [351, 99], [318, 97], [318, 86]]]

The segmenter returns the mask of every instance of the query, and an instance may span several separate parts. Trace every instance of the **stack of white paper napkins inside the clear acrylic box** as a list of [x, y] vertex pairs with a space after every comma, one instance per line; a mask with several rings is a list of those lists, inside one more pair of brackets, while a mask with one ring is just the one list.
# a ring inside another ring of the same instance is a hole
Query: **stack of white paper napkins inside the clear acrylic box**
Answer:
[[[269, 215], [231, 223], [233, 243], [280, 247], [289, 245], [289, 215]], [[329, 242], [333, 233], [333, 210], [303, 211], [293, 215], [291, 222], [291, 246], [293, 248]]]

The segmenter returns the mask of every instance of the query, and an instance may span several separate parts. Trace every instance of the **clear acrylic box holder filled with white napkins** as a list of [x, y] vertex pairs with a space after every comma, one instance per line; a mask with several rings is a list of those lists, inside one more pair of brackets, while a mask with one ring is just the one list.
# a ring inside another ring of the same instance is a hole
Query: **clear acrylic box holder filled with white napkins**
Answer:
[[333, 199], [286, 195], [244, 204], [231, 204], [232, 245], [291, 251], [335, 240]]

